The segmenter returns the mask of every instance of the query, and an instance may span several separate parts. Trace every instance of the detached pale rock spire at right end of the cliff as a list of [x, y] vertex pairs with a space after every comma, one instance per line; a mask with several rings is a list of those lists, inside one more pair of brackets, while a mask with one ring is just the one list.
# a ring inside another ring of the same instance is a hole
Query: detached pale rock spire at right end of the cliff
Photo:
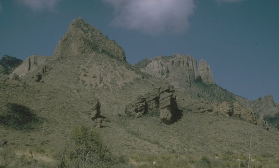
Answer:
[[203, 59], [200, 60], [199, 72], [200, 72], [201, 79], [204, 83], [215, 84], [211, 69], [209, 65], [207, 65], [206, 61]]

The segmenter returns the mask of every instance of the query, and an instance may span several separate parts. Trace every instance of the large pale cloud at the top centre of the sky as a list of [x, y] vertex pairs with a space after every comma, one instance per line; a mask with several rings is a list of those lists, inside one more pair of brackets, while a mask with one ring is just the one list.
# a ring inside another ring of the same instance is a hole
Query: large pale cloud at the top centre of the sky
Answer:
[[103, 0], [114, 8], [113, 26], [149, 34], [184, 32], [193, 13], [193, 0]]

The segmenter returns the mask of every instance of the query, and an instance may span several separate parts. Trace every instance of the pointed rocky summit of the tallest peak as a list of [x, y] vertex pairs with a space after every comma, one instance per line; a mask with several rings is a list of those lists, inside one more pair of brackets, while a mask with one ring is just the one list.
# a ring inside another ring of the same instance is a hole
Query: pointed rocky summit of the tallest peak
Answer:
[[119, 44], [109, 40], [100, 30], [79, 17], [73, 20], [67, 33], [59, 40], [53, 55], [63, 57], [93, 52], [105, 53], [126, 61]]

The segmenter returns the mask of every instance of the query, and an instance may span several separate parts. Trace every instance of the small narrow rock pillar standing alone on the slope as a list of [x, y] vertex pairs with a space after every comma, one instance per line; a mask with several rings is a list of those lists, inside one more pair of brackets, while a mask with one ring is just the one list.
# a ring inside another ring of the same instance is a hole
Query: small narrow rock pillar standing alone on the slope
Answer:
[[95, 127], [101, 128], [103, 120], [106, 119], [106, 117], [101, 115], [101, 102], [97, 97], [93, 97], [91, 105], [92, 109], [89, 112], [91, 119], [94, 121]]

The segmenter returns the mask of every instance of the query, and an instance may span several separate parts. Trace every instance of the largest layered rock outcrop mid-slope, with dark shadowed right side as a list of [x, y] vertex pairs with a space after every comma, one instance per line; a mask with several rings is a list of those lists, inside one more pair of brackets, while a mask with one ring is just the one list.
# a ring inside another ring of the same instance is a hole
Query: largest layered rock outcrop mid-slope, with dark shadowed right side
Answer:
[[174, 87], [164, 84], [144, 96], [138, 96], [136, 100], [125, 107], [125, 113], [131, 117], [141, 117], [154, 108], [160, 109], [160, 119], [164, 124], [172, 124], [181, 117], [181, 112], [176, 104]]

